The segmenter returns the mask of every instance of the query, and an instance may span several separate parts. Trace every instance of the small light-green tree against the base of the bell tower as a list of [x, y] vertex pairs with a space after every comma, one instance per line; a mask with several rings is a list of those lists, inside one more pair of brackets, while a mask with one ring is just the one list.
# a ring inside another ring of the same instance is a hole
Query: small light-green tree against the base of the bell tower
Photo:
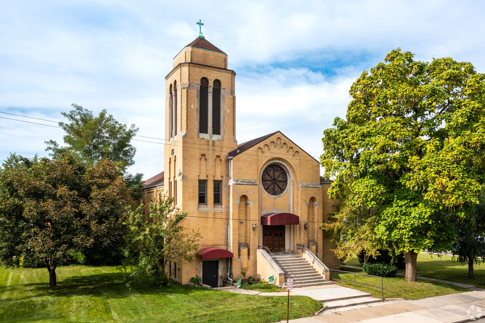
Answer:
[[187, 213], [180, 213], [174, 200], [172, 196], [159, 194], [158, 201], [148, 205], [149, 212], [143, 212], [143, 204], [135, 211], [127, 208], [126, 259], [119, 267], [128, 280], [127, 286], [147, 276], [154, 277], [156, 286], [165, 286], [168, 284], [165, 268], [170, 261], [178, 264], [182, 259], [192, 261], [202, 236], [199, 230], [183, 226]]

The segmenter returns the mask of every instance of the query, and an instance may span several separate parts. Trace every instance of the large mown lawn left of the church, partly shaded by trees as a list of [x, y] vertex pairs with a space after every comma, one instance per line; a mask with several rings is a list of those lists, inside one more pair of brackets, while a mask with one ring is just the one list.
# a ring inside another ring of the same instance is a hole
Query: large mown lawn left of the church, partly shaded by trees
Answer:
[[[0, 322], [277, 322], [285, 296], [243, 295], [175, 285], [129, 290], [116, 266], [58, 267], [49, 290], [47, 269], [0, 268]], [[313, 315], [322, 303], [290, 297], [290, 317]]]

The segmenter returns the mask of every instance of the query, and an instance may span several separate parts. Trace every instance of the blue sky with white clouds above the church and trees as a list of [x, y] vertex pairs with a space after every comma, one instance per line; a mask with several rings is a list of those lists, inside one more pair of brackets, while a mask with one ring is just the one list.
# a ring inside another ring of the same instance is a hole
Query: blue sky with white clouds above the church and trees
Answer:
[[[483, 1], [3, 0], [0, 111], [62, 121], [76, 103], [163, 138], [164, 76], [202, 19], [237, 73], [238, 142], [280, 130], [319, 156], [323, 129], [345, 117], [352, 82], [393, 48], [485, 72], [484, 9]], [[44, 141], [62, 136], [0, 119], [0, 160], [46, 155]], [[163, 145], [133, 145], [131, 172], [162, 171]]]

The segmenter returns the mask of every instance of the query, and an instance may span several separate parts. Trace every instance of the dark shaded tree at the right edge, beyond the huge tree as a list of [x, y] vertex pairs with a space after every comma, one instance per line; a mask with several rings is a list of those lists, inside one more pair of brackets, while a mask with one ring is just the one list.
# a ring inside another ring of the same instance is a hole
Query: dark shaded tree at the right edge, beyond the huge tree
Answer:
[[450, 214], [457, 240], [453, 242], [453, 258], [462, 265], [468, 263], [468, 276], [473, 278], [473, 263], [480, 264], [485, 259], [485, 189], [482, 201], [469, 212], [466, 218]]

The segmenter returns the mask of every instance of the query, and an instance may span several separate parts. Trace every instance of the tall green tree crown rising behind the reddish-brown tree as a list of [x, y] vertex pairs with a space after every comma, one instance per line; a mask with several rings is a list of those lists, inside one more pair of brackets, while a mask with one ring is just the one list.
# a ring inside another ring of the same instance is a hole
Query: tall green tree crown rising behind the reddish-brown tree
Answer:
[[[70, 123], [59, 122], [59, 127], [64, 129], [66, 135], [63, 137], [67, 147], [61, 147], [55, 141], [46, 141], [52, 154], [63, 153], [66, 150], [75, 152], [82, 161], [94, 165], [97, 161], [107, 158], [125, 170], [133, 165], [133, 157], [136, 148], [130, 144], [131, 139], [138, 132], [135, 125], [127, 128], [102, 110], [97, 117], [92, 111], [72, 104], [74, 110], [69, 113], [61, 113]], [[52, 155], [51, 154], [51, 155]]]

